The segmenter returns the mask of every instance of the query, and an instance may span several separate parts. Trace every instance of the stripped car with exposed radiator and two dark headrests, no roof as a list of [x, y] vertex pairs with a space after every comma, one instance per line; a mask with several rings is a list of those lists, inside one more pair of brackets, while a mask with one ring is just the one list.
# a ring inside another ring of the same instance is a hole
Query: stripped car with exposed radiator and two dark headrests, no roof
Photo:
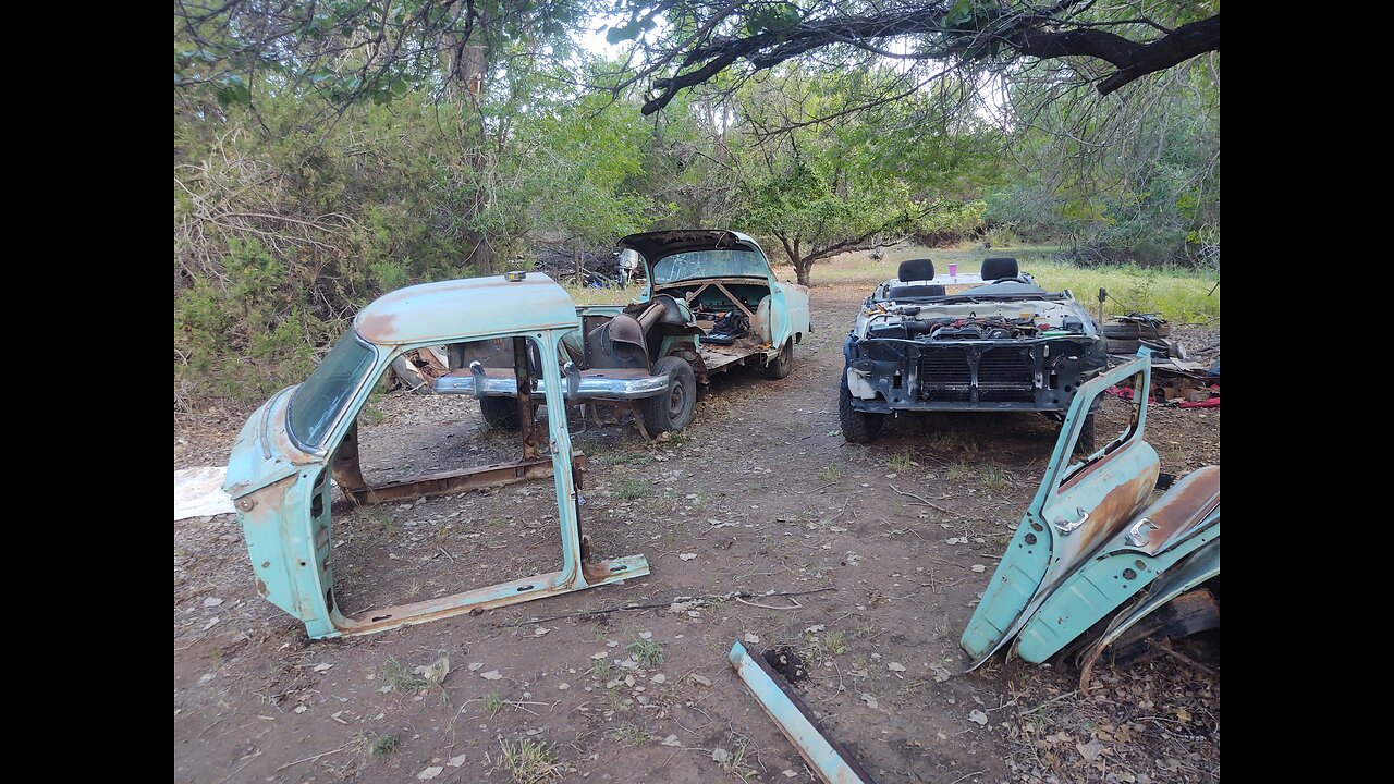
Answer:
[[895, 412], [1059, 419], [1108, 363], [1105, 349], [1089, 311], [1020, 275], [1016, 259], [987, 259], [981, 276], [906, 261], [866, 299], [843, 346], [843, 435], [868, 442]]

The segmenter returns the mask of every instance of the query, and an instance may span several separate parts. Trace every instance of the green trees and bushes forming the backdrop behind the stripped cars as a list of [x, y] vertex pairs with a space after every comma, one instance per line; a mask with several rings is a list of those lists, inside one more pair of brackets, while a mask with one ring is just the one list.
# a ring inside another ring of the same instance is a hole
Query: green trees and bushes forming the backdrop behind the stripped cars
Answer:
[[[1129, 86], [1125, 102], [1030, 68], [1004, 82], [1006, 121], [976, 110], [973, 74], [906, 91], [903, 68], [873, 59], [723, 73], [644, 119], [650, 85], [618, 85], [618, 63], [577, 47], [598, 6], [471, 7], [487, 27], [427, 0], [176, 7], [176, 412], [304, 379], [388, 290], [499, 272], [502, 259], [531, 269], [542, 243], [591, 251], [661, 227], [751, 232], [802, 282], [814, 262], [906, 236], [937, 248], [984, 233], [993, 247], [1059, 240], [1110, 266], [1034, 268], [1043, 279], [1082, 296], [1108, 279], [1142, 310], [1218, 312], [1214, 276], [1195, 290], [1112, 266], [1189, 262], [1217, 276], [1218, 56]], [[947, 35], [973, 38], [999, 8], [955, 0]], [[779, 38], [811, 13], [749, 3], [723, 25]], [[1168, 13], [1178, 27], [1214, 8]], [[659, 29], [652, 4], [615, 14], [612, 43], [696, 31], [673, 10]], [[629, 297], [569, 290], [579, 303]]]

